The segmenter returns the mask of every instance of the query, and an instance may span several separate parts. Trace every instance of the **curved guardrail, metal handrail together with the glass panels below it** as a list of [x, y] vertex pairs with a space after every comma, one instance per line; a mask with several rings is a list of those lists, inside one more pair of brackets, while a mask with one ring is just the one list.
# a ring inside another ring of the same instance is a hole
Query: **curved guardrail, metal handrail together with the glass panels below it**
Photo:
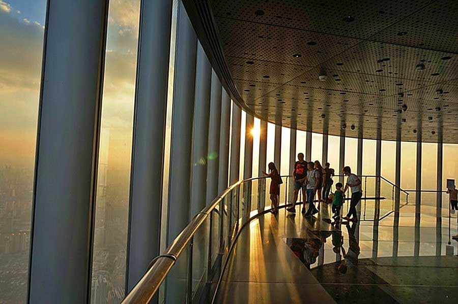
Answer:
[[[282, 204], [284, 208], [289, 206], [293, 181], [291, 176], [282, 176], [282, 178], [285, 181], [281, 185], [280, 194], [281, 197], [284, 195]], [[364, 178], [363, 187], [367, 186], [368, 178], [374, 178], [374, 194], [380, 194], [380, 188], [377, 190], [377, 187], [380, 187], [381, 180], [386, 181], [390, 187], [396, 187], [383, 177], [362, 176], [361, 178]], [[163, 254], [153, 259], [146, 274], [122, 303], [150, 303], [159, 295], [159, 290], [162, 290], [161, 296], [167, 303], [198, 302], [203, 294], [209, 295], [212, 291], [215, 292], [216, 288], [212, 286], [213, 279], [218, 274], [221, 278], [224, 265], [227, 263], [228, 255], [241, 227], [253, 217], [270, 211], [270, 208], [265, 207], [269, 196], [267, 187], [269, 182], [270, 179], [266, 180], [266, 178], [251, 178], [239, 181], [224, 190], [210, 206], [193, 217]], [[399, 190], [405, 192], [400, 188]], [[408, 196], [408, 193], [405, 193]], [[374, 195], [374, 198], [376, 200], [379, 198], [378, 204], [380, 204], [380, 197]], [[365, 217], [366, 200], [363, 199]], [[377, 207], [374, 208], [374, 216], [379, 218], [380, 205], [377, 215]], [[393, 208], [387, 209], [386, 212], [393, 212]], [[164, 284], [165, 281], [167, 284]]]

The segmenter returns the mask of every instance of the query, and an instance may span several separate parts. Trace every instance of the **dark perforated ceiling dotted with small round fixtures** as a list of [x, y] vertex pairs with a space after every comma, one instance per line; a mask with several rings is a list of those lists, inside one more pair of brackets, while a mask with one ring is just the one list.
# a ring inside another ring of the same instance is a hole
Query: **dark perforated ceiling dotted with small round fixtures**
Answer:
[[458, 0], [210, 7], [232, 81], [257, 116], [332, 135], [458, 143]]

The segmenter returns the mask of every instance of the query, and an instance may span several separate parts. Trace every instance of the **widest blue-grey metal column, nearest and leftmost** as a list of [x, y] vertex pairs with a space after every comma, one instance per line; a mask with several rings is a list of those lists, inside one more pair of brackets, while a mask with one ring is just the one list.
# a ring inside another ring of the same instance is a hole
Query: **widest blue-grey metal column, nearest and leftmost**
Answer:
[[30, 256], [30, 303], [89, 301], [108, 1], [48, 6]]

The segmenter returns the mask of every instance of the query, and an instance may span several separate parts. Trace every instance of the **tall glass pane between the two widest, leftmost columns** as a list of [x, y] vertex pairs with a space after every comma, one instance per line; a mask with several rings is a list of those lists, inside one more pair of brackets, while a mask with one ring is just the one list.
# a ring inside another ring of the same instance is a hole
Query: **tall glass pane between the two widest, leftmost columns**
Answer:
[[109, 6], [91, 301], [124, 297], [139, 0]]

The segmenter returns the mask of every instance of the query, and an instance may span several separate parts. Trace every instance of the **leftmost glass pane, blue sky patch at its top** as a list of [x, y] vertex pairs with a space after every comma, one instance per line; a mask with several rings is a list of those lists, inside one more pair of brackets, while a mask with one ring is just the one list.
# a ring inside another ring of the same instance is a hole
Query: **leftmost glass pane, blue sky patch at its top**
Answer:
[[0, 303], [25, 303], [46, 1], [0, 1]]

